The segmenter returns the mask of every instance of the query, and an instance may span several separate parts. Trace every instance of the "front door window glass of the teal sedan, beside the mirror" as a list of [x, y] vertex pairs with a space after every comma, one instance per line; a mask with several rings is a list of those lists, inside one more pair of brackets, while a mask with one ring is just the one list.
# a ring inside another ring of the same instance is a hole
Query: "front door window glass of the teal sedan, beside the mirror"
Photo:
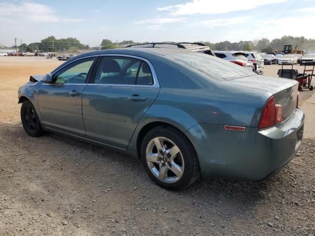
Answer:
[[74, 61], [54, 75], [57, 84], [84, 84], [95, 58]]

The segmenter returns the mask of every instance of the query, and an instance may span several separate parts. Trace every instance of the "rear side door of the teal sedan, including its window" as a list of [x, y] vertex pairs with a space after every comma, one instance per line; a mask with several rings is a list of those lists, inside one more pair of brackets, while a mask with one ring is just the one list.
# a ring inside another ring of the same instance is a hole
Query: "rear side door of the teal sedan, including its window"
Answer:
[[102, 56], [83, 93], [86, 137], [127, 148], [139, 121], [158, 96], [152, 64], [131, 56]]

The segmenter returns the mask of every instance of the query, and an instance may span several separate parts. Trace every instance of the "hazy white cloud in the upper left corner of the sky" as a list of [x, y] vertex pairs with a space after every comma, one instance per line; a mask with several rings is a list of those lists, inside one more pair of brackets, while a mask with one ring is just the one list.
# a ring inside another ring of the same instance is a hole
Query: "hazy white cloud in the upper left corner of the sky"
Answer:
[[29, 24], [51, 22], [79, 22], [84, 19], [62, 18], [52, 8], [43, 4], [24, 2], [20, 5], [0, 2], [1, 24]]

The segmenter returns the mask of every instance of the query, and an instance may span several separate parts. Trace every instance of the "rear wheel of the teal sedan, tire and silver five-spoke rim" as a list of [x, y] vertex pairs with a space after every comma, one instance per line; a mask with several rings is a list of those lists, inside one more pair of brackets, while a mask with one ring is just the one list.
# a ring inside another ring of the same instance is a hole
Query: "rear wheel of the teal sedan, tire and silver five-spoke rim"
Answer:
[[197, 154], [187, 137], [175, 128], [158, 126], [141, 144], [141, 160], [149, 177], [168, 189], [183, 189], [200, 176]]

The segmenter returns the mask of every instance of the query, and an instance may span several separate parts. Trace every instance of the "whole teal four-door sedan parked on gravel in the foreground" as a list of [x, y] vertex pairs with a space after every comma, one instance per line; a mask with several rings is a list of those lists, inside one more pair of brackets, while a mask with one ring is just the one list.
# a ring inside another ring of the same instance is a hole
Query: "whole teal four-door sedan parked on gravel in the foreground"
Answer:
[[264, 179], [302, 143], [298, 82], [185, 49], [82, 54], [32, 75], [18, 98], [30, 136], [52, 131], [132, 155], [169, 189], [200, 174]]

